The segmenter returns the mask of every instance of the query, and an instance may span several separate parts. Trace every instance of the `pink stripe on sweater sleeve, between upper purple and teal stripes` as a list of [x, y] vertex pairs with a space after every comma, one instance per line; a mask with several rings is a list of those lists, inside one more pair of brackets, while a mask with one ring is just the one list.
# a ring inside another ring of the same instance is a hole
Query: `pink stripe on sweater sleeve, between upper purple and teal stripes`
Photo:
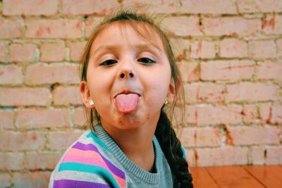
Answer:
[[[75, 151], [74, 153], [84, 153], [84, 151], [79, 150], [79, 151]], [[96, 153], [96, 152], [92, 152], [92, 153]], [[99, 158], [101, 158], [101, 159], [99, 159]], [[111, 173], [111, 175], [114, 177], [116, 182], [118, 182], [118, 185], [120, 185], [120, 187], [125, 187], [125, 180], [122, 179], [121, 177], [118, 177], [114, 173], [112, 173], [111, 170], [109, 170], [108, 166], [106, 165], [106, 163], [104, 162], [104, 160], [102, 159], [101, 156], [99, 156], [98, 158], [90, 158], [90, 157], [84, 157], [84, 156], [78, 156], [78, 155], [71, 155], [71, 153], [68, 152], [66, 154], [66, 156], [63, 158], [62, 163], [68, 163], [68, 162], [83, 163], [83, 164], [87, 164], [87, 165], [97, 165], [97, 166], [100, 166], [102, 168], [105, 168], [109, 173]]]

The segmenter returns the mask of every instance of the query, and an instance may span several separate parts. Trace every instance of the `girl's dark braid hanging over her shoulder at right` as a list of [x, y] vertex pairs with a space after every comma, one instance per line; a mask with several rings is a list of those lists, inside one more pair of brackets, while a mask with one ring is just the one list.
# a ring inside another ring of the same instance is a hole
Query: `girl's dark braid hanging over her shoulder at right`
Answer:
[[192, 176], [188, 170], [188, 163], [183, 158], [180, 141], [176, 137], [176, 132], [171, 127], [171, 122], [163, 110], [161, 110], [155, 135], [161, 149], [164, 151], [164, 156], [166, 156], [171, 171], [178, 179], [180, 187], [192, 188]]

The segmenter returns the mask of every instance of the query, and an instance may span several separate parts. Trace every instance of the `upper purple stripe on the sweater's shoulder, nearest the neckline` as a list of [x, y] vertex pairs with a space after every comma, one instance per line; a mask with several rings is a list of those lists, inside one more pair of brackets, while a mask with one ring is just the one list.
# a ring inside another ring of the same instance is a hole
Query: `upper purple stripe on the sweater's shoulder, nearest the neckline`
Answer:
[[103, 160], [105, 161], [108, 168], [111, 170], [112, 173], [117, 175], [118, 177], [121, 177], [122, 179], [125, 179], [125, 173], [121, 171], [120, 169], [116, 168], [115, 165], [113, 165], [110, 161], [108, 161], [104, 156], [98, 151], [97, 147], [93, 144], [82, 144], [81, 142], [77, 142], [73, 145], [73, 148], [80, 149], [83, 151], [96, 151], [99, 153], [100, 156], [102, 156]]

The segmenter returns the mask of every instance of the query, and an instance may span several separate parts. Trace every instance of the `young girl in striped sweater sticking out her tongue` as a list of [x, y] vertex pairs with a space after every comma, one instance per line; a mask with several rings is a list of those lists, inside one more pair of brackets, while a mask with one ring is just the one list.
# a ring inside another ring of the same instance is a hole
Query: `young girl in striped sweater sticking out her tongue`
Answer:
[[91, 130], [68, 148], [49, 187], [192, 187], [165, 112], [182, 82], [157, 24], [130, 11], [106, 18], [85, 48], [81, 79]]

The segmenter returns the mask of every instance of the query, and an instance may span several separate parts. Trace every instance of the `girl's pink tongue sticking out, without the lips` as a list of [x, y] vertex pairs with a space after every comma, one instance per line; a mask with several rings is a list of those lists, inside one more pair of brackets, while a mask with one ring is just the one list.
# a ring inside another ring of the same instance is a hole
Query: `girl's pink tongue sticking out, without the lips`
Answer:
[[122, 113], [135, 111], [140, 99], [137, 94], [118, 94], [115, 99], [116, 108]]

